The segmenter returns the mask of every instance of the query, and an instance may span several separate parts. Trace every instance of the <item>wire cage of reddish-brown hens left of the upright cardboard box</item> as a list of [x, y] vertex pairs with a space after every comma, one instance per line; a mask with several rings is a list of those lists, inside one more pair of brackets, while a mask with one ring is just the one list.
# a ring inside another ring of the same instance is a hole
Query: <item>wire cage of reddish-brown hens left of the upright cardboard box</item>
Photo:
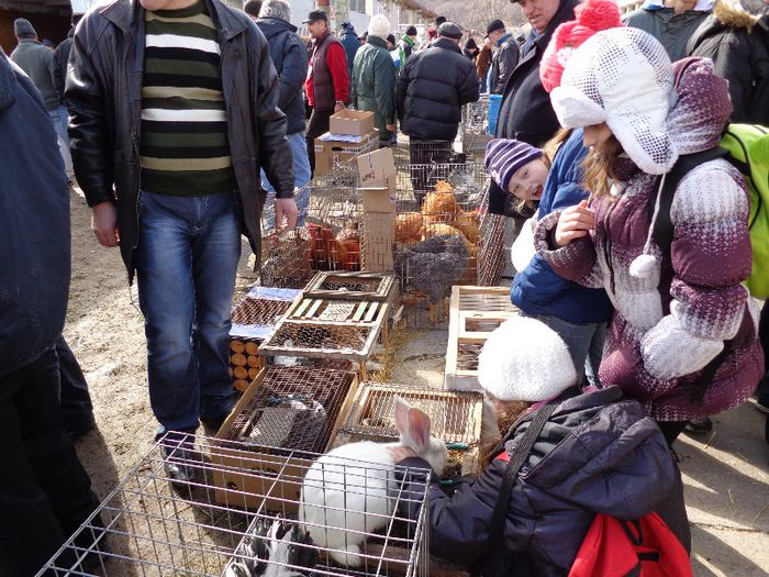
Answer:
[[334, 167], [296, 192], [297, 230], [278, 234], [272, 207], [263, 214], [260, 285], [302, 288], [319, 270], [359, 270], [361, 212], [354, 163]]

